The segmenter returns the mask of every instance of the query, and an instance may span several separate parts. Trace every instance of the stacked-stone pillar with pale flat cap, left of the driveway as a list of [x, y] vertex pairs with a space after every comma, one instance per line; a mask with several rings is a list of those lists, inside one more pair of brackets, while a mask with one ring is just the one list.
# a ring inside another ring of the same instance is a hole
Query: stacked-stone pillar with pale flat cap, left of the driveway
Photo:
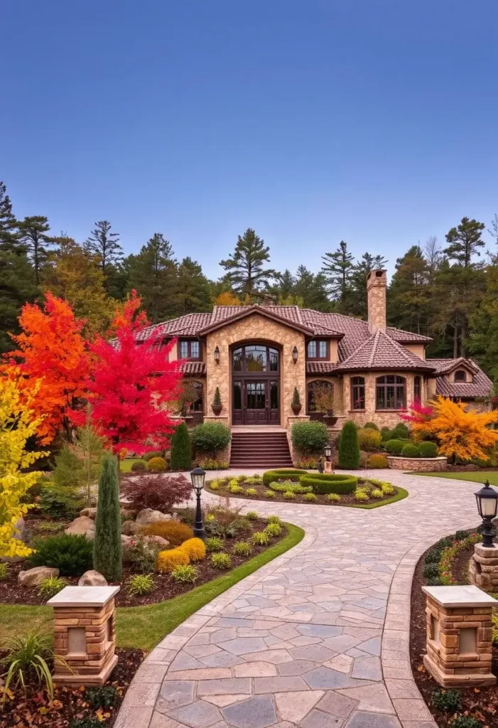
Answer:
[[[114, 596], [120, 587], [65, 587], [54, 608], [54, 681], [103, 685], [116, 667]], [[57, 655], [65, 662], [57, 662]]]

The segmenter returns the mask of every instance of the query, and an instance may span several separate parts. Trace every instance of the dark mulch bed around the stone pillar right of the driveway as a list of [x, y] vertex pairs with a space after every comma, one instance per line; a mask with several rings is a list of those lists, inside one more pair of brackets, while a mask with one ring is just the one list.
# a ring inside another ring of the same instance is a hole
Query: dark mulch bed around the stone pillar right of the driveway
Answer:
[[[452, 573], [460, 584], [469, 583], [468, 563], [473, 550], [474, 547], [471, 546], [460, 552], [454, 561]], [[425, 594], [422, 592], [422, 585], [427, 582], [427, 579], [423, 576], [425, 554], [417, 564], [411, 586], [411, 669], [417, 687], [422, 693], [436, 723], [440, 728], [446, 728], [449, 726], [451, 719], [454, 718], [454, 714], [439, 711], [432, 705], [433, 692], [435, 689], [441, 689], [441, 686], [427, 673], [423, 665], [423, 657], [426, 652]], [[496, 646], [493, 647], [492, 671], [498, 676], [498, 648]], [[459, 688], [458, 691], [462, 697], [462, 711], [459, 711], [459, 714], [468, 714], [480, 720], [483, 728], [498, 728], [498, 687]]]

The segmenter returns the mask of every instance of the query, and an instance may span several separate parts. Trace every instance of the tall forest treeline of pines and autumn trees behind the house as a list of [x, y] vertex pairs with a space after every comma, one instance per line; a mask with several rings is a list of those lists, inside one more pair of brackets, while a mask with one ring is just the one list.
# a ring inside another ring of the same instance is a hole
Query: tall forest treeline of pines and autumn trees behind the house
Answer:
[[[486, 224], [464, 217], [441, 244], [430, 237], [423, 246], [412, 245], [395, 262], [387, 317], [390, 325], [432, 337], [428, 355], [471, 356], [498, 380], [497, 215], [487, 232], [491, 249], [483, 239]], [[220, 261], [222, 274], [213, 281], [197, 261], [177, 258], [160, 232], [124, 256], [119, 232], [108, 221], [97, 221], [87, 240], [77, 242], [68, 232], [56, 234], [44, 215], [17, 218], [0, 182], [0, 352], [12, 349], [9, 332], [19, 331], [23, 304], [47, 290], [69, 301], [90, 335], [105, 333], [131, 290], [151, 323], [268, 295], [279, 304], [366, 318], [366, 277], [386, 265], [370, 251], [356, 259], [341, 241], [324, 252], [317, 272], [305, 264], [295, 272], [276, 271], [270, 248], [249, 228]]]

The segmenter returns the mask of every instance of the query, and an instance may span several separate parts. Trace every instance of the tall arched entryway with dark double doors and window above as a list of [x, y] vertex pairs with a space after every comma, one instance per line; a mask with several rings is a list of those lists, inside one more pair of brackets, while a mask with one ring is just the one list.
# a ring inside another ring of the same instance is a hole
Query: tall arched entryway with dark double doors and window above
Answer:
[[230, 352], [232, 424], [280, 424], [281, 350], [247, 342]]

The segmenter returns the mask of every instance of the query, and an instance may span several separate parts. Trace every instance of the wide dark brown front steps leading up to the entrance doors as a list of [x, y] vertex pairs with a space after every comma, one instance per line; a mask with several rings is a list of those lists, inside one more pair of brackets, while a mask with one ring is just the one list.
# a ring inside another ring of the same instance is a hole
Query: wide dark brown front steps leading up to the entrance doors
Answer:
[[293, 467], [287, 433], [275, 428], [270, 430], [257, 427], [250, 430], [232, 430], [232, 447], [230, 451], [230, 468], [244, 468], [250, 471], [256, 468], [272, 470], [279, 467]]

